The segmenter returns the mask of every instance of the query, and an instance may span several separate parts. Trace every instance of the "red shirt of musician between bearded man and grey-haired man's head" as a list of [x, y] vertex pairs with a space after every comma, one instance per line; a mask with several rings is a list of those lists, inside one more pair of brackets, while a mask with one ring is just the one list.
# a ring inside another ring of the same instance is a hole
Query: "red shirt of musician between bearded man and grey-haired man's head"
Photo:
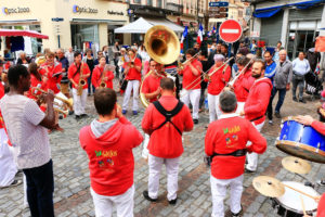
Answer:
[[255, 78], [251, 77], [251, 68], [248, 68], [242, 74], [234, 84], [234, 92], [238, 102], [246, 102], [249, 89], [255, 82]]

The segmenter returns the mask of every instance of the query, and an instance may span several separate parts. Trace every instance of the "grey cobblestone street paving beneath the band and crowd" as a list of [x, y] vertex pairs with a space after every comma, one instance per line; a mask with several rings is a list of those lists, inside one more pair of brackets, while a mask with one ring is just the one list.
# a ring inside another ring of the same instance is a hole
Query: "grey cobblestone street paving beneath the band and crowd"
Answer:
[[[277, 97], [276, 97], [277, 99]], [[317, 100], [311, 101], [306, 98], [308, 103], [297, 103], [291, 101], [289, 92], [286, 95], [283, 117], [288, 115], [311, 114], [315, 118]], [[95, 111], [89, 97], [87, 111], [90, 117], [77, 122], [73, 116], [60, 120], [64, 132], [53, 132], [50, 135], [52, 145], [52, 158], [54, 165], [54, 206], [55, 215], [65, 216], [94, 216], [92, 199], [90, 195], [90, 181], [88, 169], [88, 157], [79, 145], [79, 129], [90, 124], [95, 117]], [[122, 98], [118, 97], [119, 102]], [[276, 100], [274, 100], [274, 103]], [[144, 110], [141, 108], [138, 116], [132, 116], [130, 112], [127, 117], [138, 129], [141, 128], [141, 120]], [[266, 119], [268, 122], [268, 119]], [[135, 170], [134, 170], [134, 215], [140, 216], [210, 216], [211, 214], [211, 193], [210, 193], [210, 171], [204, 163], [204, 139], [208, 124], [208, 115], [200, 113], [199, 124], [194, 127], [192, 132], [184, 133], [184, 154], [181, 157], [179, 170], [179, 201], [176, 206], [169, 205], [166, 199], [166, 173], [162, 167], [160, 178], [159, 201], [150, 203], [142, 192], [147, 189], [148, 167], [146, 162], [141, 158], [142, 145], [134, 149]], [[268, 150], [259, 157], [259, 167], [256, 174], [245, 174], [244, 192], [242, 204], [244, 216], [277, 216], [272, 208], [271, 201], [258, 193], [251, 182], [253, 177], [265, 175], [276, 177], [280, 180], [304, 182], [304, 178], [285, 170], [281, 165], [281, 159], [287, 156], [275, 148], [275, 139], [280, 132], [281, 119], [274, 117], [274, 125], [265, 123], [263, 136], [268, 139]], [[311, 163], [312, 170], [306, 175], [307, 179], [316, 181], [325, 177], [325, 166]], [[22, 176], [18, 177], [20, 179]], [[316, 188], [318, 193], [323, 193], [325, 188]], [[225, 210], [229, 213], [229, 197], [226, 199]], [[23, 184], [15, 188], [0, 190], [0, 217], [29, 216], [28, 208], [23, 206]], [[115, 215], [116, 216], [116, 215]]]

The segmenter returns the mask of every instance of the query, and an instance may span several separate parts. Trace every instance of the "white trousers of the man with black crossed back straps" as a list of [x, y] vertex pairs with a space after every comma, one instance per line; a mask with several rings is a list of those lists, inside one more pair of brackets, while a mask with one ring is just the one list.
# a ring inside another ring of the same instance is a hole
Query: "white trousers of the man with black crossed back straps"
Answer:
[[162, 164], [166, 165], [167, 174], [167, 199], [172, 201], [177, 199], [177, 192], [179, 189], [178, 176], [180, 157], [176, 158], [161, 158], [154, 155], [148, 155], [148, 196], [152, 199], [158, 197], [159, 190], [159, 177]]

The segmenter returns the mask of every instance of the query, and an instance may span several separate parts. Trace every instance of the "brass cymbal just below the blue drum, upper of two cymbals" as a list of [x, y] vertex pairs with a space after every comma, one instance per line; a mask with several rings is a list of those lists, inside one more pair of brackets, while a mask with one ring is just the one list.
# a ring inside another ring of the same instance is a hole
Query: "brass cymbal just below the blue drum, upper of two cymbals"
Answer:
[[311, 170], [311, 165], [307, 161], [295, 156], [284, 157], [282, 165], [285, 169], [295, 174], [308, 174]]

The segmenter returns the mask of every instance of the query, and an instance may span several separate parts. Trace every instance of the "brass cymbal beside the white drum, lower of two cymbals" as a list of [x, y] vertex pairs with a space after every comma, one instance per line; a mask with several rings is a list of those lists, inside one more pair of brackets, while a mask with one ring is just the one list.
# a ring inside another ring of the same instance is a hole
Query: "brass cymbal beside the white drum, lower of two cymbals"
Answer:
[[270, 197], [278, 197], [285, 193], [284, 184], [269, 176], [259, 176], [252, 180], [253, 188], [261, 194]]

